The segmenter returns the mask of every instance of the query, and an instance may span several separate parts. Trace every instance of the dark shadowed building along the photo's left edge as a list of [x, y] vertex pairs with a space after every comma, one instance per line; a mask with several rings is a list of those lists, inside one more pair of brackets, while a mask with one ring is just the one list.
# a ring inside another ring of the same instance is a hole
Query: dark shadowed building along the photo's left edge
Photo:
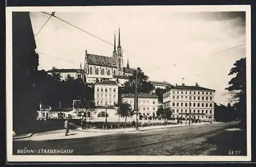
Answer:
[[39, 109], [38, 54], [29, 12], [12, 12], [13, 129], [30, 127]]

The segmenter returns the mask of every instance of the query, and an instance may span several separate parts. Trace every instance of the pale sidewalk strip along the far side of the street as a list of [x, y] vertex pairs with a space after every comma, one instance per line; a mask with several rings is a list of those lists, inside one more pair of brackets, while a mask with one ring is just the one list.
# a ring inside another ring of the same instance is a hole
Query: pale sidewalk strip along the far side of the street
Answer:
[[[193, 125], [203, 125], [206, 123], [197, 123]], [[47, 141], [47, 140], [61, 140], [61, 139], [71, 139], [71, 138], [84, 138], [84, 137], [93, 137], [93, 136], [101, 136], [101, 135], [109, 135], [109, 134], [119, 134], [119, 133], [143, 133], [150, 130], [161, 130], [166, 128], [173, 127], [182, 127], [186, 126], [185, 124], [177, 124], [177, 125], [159, 125], [159, 126], [147, 126], [147, 127], [139, 127], [139, 131], [136, 131], [135, 128], [122, 128], [122, 129], [86, 129], [82, 130], [81, 127], [77, 129], [71, 129], [69, 131], [69, 135], [65, 136], [65, 129], [57, 130], [57, 131], [49, 131], [43, 133], [35, 133], [30, 137], [26, 138], [13, 138], [14, 141]], [[188, 126], [188, 124], [187, 124]]]

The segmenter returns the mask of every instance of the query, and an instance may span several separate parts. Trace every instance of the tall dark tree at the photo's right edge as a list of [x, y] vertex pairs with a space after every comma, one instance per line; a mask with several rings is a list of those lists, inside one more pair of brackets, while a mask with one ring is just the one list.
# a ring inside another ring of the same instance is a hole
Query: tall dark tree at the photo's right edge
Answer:
[[233, 64], [228, 75], [235, 75], [229, 82], [228, 90], [232, 96], [233, 106], [236, 109], [237, 118], [246, 120], [246, 58], [242, 58]]

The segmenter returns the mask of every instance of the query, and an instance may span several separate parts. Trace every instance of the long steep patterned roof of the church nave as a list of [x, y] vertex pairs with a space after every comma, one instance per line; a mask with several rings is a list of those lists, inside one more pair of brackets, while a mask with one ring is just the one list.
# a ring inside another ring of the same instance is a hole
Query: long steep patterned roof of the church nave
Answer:
[[87, 54], [87, 57], [89, 65], [117, 68], [117, 62], [115, 58], [96, 54]]

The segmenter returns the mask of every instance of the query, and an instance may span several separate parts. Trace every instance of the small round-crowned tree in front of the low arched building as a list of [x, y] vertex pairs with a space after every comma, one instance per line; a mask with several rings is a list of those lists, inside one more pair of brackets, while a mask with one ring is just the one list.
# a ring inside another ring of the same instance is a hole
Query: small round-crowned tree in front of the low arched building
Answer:
[[85, 121], [87, 117], [91, 117], [92, 113], [95, 113], [95, 103], [91, 100], [79, 100], [74, 104], [74, 108], [79, 117], [85, 117]]

